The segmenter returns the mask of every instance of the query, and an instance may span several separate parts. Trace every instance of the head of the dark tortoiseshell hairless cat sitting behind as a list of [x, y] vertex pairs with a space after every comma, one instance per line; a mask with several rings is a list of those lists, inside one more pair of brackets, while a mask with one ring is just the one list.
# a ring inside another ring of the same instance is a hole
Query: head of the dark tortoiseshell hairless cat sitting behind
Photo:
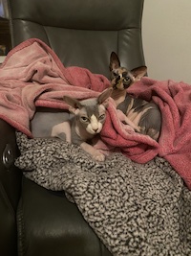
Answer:
[[115, 52], [110, 56], [110, 71], [112, 87], [118, 90], [127, 89], [134, 82], [139, 81], [147, 72], [146, 66], [140, 66], [129, 71], [120, 66], [120, 60]]

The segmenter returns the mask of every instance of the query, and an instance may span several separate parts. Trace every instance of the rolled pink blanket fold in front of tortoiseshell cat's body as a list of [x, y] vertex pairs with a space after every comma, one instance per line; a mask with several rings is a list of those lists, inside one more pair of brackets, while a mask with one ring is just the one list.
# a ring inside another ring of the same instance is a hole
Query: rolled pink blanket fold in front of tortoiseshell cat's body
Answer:
[[146, 163], [153, 159], [159, 151], [159, 143], [149, 136], [138, 134], [132, 128], [124, 126], [118, 117], [116, 107], [110, 104], [101, 140], [110, 149], [118, 148], [127, 157], [138, 163]]

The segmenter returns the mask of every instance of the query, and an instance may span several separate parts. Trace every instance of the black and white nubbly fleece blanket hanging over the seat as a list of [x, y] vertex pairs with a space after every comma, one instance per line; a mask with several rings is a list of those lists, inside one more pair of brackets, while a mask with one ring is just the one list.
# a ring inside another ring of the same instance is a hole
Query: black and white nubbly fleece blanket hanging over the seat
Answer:
[[96, 163], [75, 145], [16, 135], [15, 165], [64, 190], [113, 255], [191, 255], [191, 192], [164, 159], [140, 165], [114, 153]]

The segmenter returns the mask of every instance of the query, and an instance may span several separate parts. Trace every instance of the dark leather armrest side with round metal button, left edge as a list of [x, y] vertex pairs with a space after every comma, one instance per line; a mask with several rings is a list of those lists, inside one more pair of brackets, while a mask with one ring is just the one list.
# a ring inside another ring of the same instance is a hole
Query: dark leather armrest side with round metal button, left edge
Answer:
[[16, 256], [16, 209], [20, 198], [22, 174], [13, 165], [18, 155], [15, 129], [0, 120], [0, 131], [0, 253]]

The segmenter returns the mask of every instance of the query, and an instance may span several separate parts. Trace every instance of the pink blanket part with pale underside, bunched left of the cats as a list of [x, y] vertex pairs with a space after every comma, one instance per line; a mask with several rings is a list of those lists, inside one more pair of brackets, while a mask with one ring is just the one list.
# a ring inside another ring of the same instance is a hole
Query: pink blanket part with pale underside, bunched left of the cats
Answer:
[[109, 84], [87, 69], [65, 68], [49, 46], [32, 38], [12, 49], [0, 66], [0, 118], [32, 136], [35, 106], [66, 108], [64, 95], [96, 97]]

